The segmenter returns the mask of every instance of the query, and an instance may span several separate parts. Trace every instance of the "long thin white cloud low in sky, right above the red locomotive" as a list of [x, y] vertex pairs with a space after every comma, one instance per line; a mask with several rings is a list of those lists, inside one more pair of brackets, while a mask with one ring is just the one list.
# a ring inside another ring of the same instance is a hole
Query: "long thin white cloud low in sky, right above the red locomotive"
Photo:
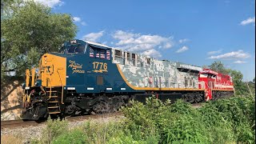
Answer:
[[240, 59], [240, 58], [250, 58], [250, 54], [246, 54], [243, 50], [232, 51], [226, 54], [220, 54], [216, 56], [210, 56], [210, 59]]

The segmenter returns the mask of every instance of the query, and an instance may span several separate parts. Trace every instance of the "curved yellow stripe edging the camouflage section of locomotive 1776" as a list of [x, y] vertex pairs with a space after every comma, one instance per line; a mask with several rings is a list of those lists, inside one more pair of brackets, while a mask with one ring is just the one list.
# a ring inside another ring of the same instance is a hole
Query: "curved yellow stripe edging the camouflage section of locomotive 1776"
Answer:
[[116, 66], [118, 67], [118, 72], [122, 76], [122, 79], [126, 82], [126, 85], [129, 86], [133, 90], [205, 90], [205, 89], [192, 89], [192, 88], [158, 88], [158, 87], [136, 87], [130, 84], [130, 82], [127, 81], [125, 75], [122, 73], [122, 70], [118, 66], [118, 63], [116, 63]]

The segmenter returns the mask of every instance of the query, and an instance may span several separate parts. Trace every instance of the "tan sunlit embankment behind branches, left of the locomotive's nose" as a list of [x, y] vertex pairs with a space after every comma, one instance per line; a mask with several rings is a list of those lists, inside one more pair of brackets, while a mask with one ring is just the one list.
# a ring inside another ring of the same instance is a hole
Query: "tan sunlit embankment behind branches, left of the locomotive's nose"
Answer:
[[22, 80], [1, 82], [1, 121], [20, 119]]

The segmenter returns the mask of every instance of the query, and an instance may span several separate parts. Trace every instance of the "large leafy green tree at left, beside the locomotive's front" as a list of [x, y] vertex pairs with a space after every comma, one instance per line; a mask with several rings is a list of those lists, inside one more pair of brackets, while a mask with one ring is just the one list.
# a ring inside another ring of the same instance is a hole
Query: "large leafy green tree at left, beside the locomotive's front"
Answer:
[[[23, 75], [27, 68], [37, 66], [42, 54], [57, 51], [77, 32], [70, 14], [51, 13], [50, 7], [38, 2], [14, 1], [3, 11], [2, 72], [15, 71], [17, 76]], [[1, 74], [1, 79], [4, 76]]]

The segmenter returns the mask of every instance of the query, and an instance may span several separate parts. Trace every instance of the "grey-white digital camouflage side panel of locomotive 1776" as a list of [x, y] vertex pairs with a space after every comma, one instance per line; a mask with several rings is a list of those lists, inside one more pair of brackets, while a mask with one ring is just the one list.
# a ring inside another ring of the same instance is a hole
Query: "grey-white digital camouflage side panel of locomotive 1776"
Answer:
[[[118, 54], [117, 54], [118, 53]], [[159, 61], [140, 54], [128, 57], [129, 52], [112, 50], [113, 62], [117, 63], [131, 86], [137, 88], [190, 88], [198, 89], [198, 66], [190, 66], [179, 62]], [[132, 59], [131, 62], [129, 60]]]

